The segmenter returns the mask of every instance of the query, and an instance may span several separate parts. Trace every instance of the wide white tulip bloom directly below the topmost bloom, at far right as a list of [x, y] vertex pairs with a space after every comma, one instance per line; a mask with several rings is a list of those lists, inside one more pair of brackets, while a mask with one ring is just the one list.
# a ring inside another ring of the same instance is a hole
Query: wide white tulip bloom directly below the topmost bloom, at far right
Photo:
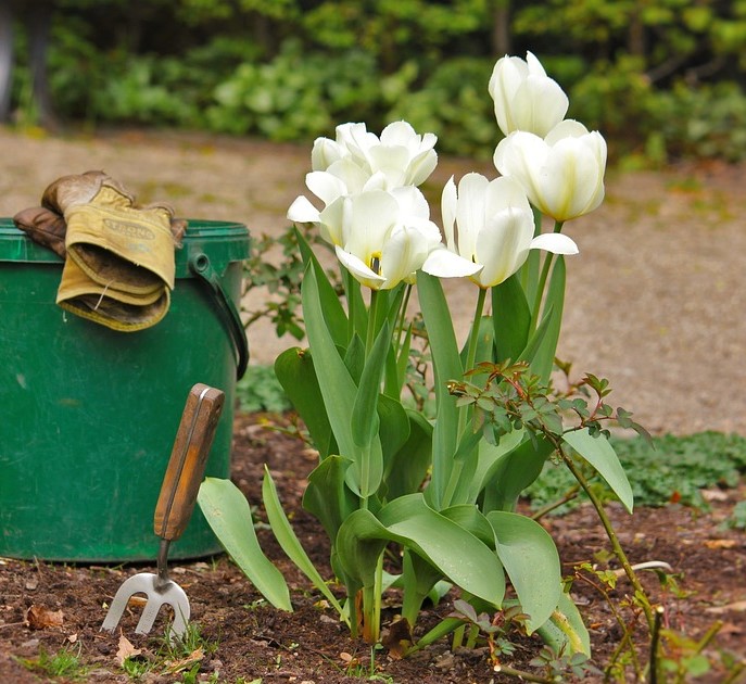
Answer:
[[604, 200], [606, 141], [566, 119], [545, 138], [516, 131], [501, 140], [494, 163], [518, 180], [531, 203], [557, 221], [592, 212]]

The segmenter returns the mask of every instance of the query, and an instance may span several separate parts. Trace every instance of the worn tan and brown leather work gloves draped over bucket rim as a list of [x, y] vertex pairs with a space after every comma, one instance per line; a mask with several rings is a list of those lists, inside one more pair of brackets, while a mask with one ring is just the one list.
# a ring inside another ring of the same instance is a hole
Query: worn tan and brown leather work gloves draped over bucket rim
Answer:
[[[159, 322], [174, 288], [174, 248], [186, 221], [164, 204], [138, 208], [122, 183], [102, 172], [65, 176], [41, 207], [16, 214], [16, 226], [65, 258], [56, 303], [109, 328], [135, 331]], [[64, 244], [61, 243], [64, 238]]]

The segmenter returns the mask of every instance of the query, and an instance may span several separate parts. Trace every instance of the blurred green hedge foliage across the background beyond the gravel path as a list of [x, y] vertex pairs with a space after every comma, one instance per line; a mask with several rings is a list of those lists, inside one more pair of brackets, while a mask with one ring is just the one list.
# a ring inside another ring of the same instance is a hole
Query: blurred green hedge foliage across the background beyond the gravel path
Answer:
[[[42, 2], [39, 2], [41, 7]], [[489, 155], [486, 83], [534, 52], [617, 157], [746, 159], [746, 0], [46, 0], [58, 115], [270, 140], [404, 117]], [[13, 103], [30, 71], [16, 22]]]

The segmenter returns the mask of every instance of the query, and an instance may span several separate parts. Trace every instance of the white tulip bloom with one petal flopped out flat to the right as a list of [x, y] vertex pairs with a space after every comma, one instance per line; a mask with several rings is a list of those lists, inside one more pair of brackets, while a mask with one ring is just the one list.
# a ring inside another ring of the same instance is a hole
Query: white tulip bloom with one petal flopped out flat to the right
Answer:
[[467, 174], [456, 189], [452, 177], [443, 189], [442, 214], [447, 249], [482, 267], [470, 278], [483, 289], [507, 280], [530, 250], [578, 253], [576, 243], [561, 233], [534, 238], [531, 206], [513, 178]]

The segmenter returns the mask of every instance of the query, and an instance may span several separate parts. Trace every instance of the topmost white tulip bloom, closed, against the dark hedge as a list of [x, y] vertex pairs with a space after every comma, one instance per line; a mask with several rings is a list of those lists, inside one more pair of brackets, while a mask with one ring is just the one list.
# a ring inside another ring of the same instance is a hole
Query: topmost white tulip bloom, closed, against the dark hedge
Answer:
[[508, 55], [497, 60], [488, 89], [506, 136], [524, 130], [543, 138], [565, 118], [569, 105], [565, 91], [531, 52], [526, 61]]

